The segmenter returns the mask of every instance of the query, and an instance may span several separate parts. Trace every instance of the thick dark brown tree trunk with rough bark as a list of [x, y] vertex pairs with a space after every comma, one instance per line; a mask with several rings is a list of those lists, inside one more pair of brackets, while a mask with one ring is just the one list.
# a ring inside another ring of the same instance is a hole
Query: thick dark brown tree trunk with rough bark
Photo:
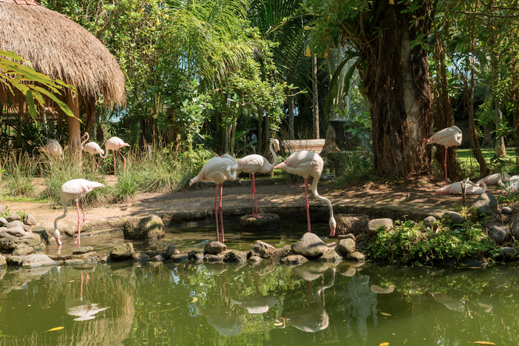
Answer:
[[[361, 46], [367, 69], [359, 70], [371, 105], [374, 170], [381, 175], [408, 176], [430, 171], [430, 152], [423, 139], [432, 135], [432, 93], [428, 51], [411, 40], [429, 33], [430, 9], [402, 13], [403, 3], [383, 6], [370, 27], [384, 28], [376, 40]], [[413, 17], [424, 17], [415, 22]]]

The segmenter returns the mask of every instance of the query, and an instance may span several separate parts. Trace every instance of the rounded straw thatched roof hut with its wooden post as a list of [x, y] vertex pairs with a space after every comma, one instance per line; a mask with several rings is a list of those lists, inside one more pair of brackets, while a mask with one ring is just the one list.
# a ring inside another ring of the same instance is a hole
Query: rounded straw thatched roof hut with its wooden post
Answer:
[[[67, 95], [64, 100], [78, 118], [81, 102], [91, 105], [101, 93], [109, 107], [125, 102], [125, 77], [115, 57], [88, 30], [39, 3], [0, 0], [0, 49], [15, 52], [36, 71], [75, 86], [78, 98]], [[69, 119], [73, 147], [79, 135], [79, 122]]]

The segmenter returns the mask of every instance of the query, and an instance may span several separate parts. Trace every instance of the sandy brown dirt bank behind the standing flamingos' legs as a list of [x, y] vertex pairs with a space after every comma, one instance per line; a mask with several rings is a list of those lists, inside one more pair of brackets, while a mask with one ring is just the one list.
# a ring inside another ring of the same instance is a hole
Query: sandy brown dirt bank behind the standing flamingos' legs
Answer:
[[[114, 181], [113, 176], [107, 176], [108, 181]], [[273, 184], [273, 179], [257, 179], [257, 201], [260, 212], [275, 212], [279, 208], [304, 208], [304, 185], [266, 185]], [[214, 185], [213, 185], [214, 186]], [[330, 199], [334, 212], [356, 213], [365, 212], [371, 217], [399, 217], [408, 215], [410, 219], [419, 219], [428, 215], [441, 217], [446, 210], [454, 210], [462, 205], [459, 196], [437, 195], [435, 190], [444, 186], [441, 179], [418, 177], [403, 183], [370, 182], [363, 185], [333, 186], [320, 181], [318, 192]], [[489, 186], [487, 192], [500, 193], [495, 187]], [[470, 205], [477, 196], [467, 196], [466, 205]], [[89, 224], [113, 225], [117, 228], [116, 220], [127, 217], [146, 217], [149, 215], [186, 214], [193, 212], [212, 212], [215, 201], [215, 189], [192, 187], [183, 192], [137, 194], [129, 203], [113, 204], [98, 208], [86, 208], [86, 228]], [[313, 196], [309, 197], [310, 206], [324, 206]], [[62, 207], [52, 206], [51, 203], [17, 203], [0, 201], [4, 208], [11, 212], [23, 210], [36, 217], [38, 226], [53, 228], [55, 217], [62, 214]], [[224, 198], [222, 202], [224, 218], [226, 213], [245, 215], [251, 212], [250, 181], [228, 181], [224, 183]], [[388, 211], [391, 211], [388, 213]], [[301, 210], [300, 210], [301, 212]], [[302, 211], [304, 212], [304, 210]], [[60, 226], [77, 227], [78, 218], [75, 208], [69, 208], [69, 215], [60, 221]], [[105, 227], [106, 228], [106, 227]]]

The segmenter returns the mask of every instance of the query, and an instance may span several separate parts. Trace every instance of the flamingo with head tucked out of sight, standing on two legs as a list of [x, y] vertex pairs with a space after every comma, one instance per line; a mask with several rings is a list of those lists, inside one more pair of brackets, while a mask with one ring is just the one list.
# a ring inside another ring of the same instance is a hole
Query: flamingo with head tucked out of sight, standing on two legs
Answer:
[[[221, 242], [225, 242], [224, 239], [224, 217], [222, 216], [221, 208], [221, 194], [224, 190], [224, 181], [227, 179], [235, 180], [236, 179], [236, 170], [238, 168], [238, 163], [236, 162], [233, 156], [229, 154], [224, 154], [222, 156], [216, 156], [211, 158], [209, 161], [203, 165], [200, 173], [190, 180], [190, 186], [194, 183], [203, 182], [203, 183], [215, 183], [216, 191], [215, 191], [215, 217], [217, 224], [217, 242], [219, 242], [219, 231], [218, 231], [218, 210], [220, 212], [220, 224], [221, 224]], [[217, 197], [218, 190], [220, 190], [220, 203], [217, 205]]]

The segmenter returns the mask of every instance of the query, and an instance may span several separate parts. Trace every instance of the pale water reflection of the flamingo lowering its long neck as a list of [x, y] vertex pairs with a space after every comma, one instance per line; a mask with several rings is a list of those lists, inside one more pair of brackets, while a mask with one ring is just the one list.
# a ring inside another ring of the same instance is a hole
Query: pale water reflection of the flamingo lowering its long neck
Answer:
[[[308, 300], [309, 307], [306, 309], [295, 310], [282, 316], [283, 320], [288, 320], [292, 327], [313, 333], [326, 329], [329, 325], [328, 313], [325, 309], [324, 293], [325, 289], [334, 286], [335, 283], [335, 268], [332, 268], [331, 280], [327, 284], [318, 286], [316, 291], [316, 302], [312, 301], [311, 282], [309, 281]], [[323, 294], [323, 297], [321, 297]]]

